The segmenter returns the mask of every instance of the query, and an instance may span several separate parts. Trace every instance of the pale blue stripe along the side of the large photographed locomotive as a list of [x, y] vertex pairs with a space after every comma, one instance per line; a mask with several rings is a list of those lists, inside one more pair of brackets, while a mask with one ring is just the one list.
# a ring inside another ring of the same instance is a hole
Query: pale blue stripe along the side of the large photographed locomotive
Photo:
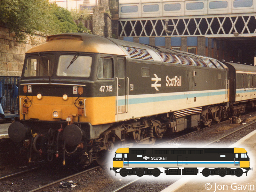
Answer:
[[[208, 97], [215, 95], [224, 95], [225, 91], [217, 91], [217, 92], [205, 92], [205, 93], [192, 93], [190, 97]], [[144, 97], [144, 98], [132, 98], [129, 99], [129, 104], [139, 104], [139, 103], [152, 103], [158, 101], [168, 101], [168, 100], [178, 100], [178, 99], [186, 99], [186, 94], [180, 95], [168, 95], [168, 96], [158, 96], [158, 97]], [[118, 106], [124, 105], [125, 99], [118, 100]]]

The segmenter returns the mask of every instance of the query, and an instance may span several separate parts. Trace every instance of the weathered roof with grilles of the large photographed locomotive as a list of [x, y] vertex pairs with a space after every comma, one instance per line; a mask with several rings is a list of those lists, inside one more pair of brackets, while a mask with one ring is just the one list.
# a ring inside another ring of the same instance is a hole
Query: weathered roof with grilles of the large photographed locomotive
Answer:
[[[27, 53], [71, 51], [124, 55], [129, 60], [162, 65], [164, 62], [223, 69], [227, 68], [216, 59], [206, 58], [193, 53], [167, 49], [146, 44], [106, 38], [88, 33], [63, 33], [47, 36], [46, 42], [28, 50]], [[175, 56], [176, 55], [176, 56]], [[179, 58], [177, 58], [177, 56]], [[190, 57], [186, 59], [185, 57]], [[192, 60], [192, 58], [195, 58]], [[197, 59], [197, 60], [196, 60]], [[209, 61], [209, 59], [211, 61]], [[204, 60], [204, 61], [203, 61]], [[215, 64], [212, 64], [215, 63]], [[206, 64], [207, 63], [207, 64]], [[214, 66], [215, 65], [215, 66]]]

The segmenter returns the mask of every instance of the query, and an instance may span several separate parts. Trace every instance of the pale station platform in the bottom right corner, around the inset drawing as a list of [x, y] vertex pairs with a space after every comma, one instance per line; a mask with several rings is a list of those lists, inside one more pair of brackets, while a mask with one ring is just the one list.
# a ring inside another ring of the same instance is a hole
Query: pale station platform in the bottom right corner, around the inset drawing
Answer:
[[180, 180], [161, 192], [256, 191], [256, 130], [229, 147], [245, 148], [247, 150], [250, 158], [250, 168], [253, 168], [253, 170], [248, 171], [247, 176], [246, 173], [241, 177], [231, 175], [226, 175], [225, 177], [220, 177], [219, 175], [204, 177], [202, 173], [198, 173], [197, 175], [184, 175]]

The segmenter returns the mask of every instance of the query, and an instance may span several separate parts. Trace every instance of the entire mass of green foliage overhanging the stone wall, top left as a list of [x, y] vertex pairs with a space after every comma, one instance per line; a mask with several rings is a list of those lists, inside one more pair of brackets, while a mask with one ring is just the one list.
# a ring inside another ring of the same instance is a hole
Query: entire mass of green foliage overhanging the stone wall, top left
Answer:
[[47, 35], [86, 31], [86, 28], [78, 29], [72, 12], [49, 4], [48, 0], [0, 0], [0, 10], [1, 25], [14, 31], [19, 42], [36, 31]]

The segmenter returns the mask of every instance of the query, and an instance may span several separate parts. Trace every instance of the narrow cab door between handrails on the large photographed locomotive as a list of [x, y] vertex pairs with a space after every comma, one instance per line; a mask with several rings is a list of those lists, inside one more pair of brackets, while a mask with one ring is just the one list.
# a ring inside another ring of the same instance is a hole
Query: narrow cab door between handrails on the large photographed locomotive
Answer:
[[128, 90], [125, 78], [125, 60], [124, 58], [117, 58], [116, 63], [116, 119], [121, 121], [128, 118]]

